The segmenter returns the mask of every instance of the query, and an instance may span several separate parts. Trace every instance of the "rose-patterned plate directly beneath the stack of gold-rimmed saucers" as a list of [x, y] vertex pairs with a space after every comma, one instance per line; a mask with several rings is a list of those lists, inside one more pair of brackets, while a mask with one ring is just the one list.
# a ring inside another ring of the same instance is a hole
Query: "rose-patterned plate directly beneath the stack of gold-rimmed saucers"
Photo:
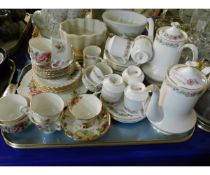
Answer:
[[74, 84], [82, 76], [81, 66], [79, 65], [79, 63], [76, 63], [76, 66], [77, 66], [76, 70], [71, 75], [59, 79], [53, 79], [53, 80], [43, 79], [37, 76], [36, 74], [33, 74], [33, 78], [40, 87], [63, 88], [65, 86], [70, 86]]

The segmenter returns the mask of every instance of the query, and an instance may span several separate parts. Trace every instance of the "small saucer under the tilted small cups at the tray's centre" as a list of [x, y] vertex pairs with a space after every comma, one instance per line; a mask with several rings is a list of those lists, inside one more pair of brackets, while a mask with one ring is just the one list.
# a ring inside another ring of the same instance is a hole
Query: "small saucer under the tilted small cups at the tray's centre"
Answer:
[[92, 68], [88, 67], [87, 69], [84, 70], [83, 75], [82, 75], [82, 82], [84, 86], [91, 92], [99, 92], [102, 88], [101, 83], [94, 83], [91, 78], [90, 78], [90, 73], [91, 73]]

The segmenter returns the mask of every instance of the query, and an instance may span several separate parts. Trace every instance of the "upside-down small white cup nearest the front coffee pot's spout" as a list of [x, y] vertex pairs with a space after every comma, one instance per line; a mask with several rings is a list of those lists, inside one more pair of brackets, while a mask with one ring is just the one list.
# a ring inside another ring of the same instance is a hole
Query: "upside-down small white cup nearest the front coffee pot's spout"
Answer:
[[130, 113], [143, 112], [148, 98], [147, 87], [141, 82], [128, 85], [124, 90], [124, 106]]

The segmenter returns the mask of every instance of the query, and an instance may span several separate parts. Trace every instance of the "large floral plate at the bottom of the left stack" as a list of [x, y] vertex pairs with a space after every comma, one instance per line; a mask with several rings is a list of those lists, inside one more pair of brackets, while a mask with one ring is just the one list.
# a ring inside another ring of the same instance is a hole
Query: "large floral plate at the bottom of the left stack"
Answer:
[[[17, 93], [28, 99], [31, 99], [32, 96], [40, 94], [42, 92], [44, 91], [41, 88], [36, 87], [34, 81], [32, 80], [32, 70], [28, 71], [23, 77], [23, 79], [21, 80], [20, 86], [17, 89]], [[76, 89], [68, 90], [68, 91], [64, 91], [64, 92], [60, 92], [56, 94], [59, 95], [63, 99], [65, 106], [67, 106], [69, 100], [71, 100], [71, 98], [75, 96], [75, 93], [84, 94], [86, 92], [87, 92], [87, 89], [80, 81]]]

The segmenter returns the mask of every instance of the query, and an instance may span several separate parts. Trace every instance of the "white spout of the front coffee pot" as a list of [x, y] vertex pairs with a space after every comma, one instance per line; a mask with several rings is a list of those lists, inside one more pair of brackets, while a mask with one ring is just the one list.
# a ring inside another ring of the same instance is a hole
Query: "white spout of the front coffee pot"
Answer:
[[146, 109], [146, 116], [151, 122], [160, 122], [164, 113], [162, 107], [159, 106], [160, 89], [157, 85], [152, 85], [152, 97]]

